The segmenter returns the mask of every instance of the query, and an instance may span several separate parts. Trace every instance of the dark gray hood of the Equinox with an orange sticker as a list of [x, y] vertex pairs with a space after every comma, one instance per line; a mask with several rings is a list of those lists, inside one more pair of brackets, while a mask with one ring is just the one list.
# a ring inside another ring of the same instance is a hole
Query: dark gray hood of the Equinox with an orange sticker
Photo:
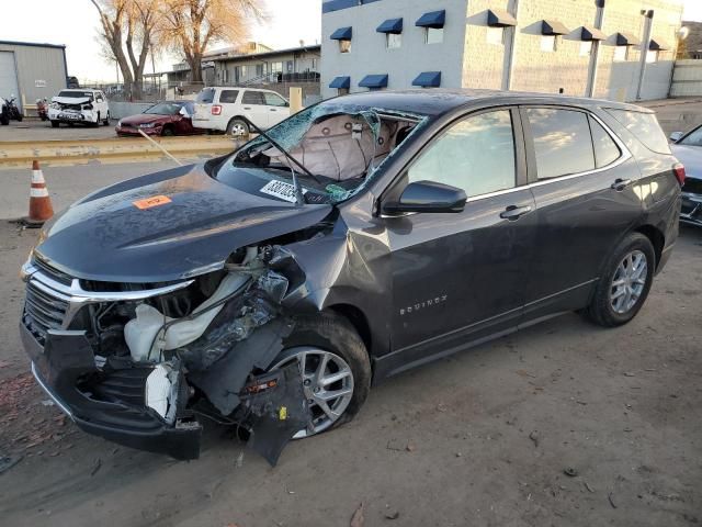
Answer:
[[[156, 205], [140, 201], [155, 197], [166, 198]], [[331, 209], [249, 194], [212, 179], [195, 165], [88, 195], [46, 225], [35, 250], [77, 278], [178, 280], [223, 262], [239, 247], [313, 226]]]

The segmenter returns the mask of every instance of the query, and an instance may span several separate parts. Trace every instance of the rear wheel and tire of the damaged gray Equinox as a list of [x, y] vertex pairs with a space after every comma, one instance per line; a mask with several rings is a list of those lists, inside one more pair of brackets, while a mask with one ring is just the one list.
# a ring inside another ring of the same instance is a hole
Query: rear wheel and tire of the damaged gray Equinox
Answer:
[[[646, 266], [643, 271], [641, 264], [636, 267], [638, 258], [643, 258]], [[608, 258], [586, 310], [588, 318], [603, 327], [616, 327], [630, 322], [648, 296], [655, 269], [656, 254], [650, 240], [639, 233], [627, 235]], [[630, 272], [631, 276], [627, 276]], [[644, 272], [645, 278], [642, 278]]]

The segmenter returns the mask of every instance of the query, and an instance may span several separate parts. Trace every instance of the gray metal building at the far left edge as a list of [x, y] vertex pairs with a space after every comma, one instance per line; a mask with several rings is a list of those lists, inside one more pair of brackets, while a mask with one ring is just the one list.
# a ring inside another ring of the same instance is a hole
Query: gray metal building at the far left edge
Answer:
[[66, 88], [67, 77], [65, 45], [0, 41], [0, 97], [34, 104]]

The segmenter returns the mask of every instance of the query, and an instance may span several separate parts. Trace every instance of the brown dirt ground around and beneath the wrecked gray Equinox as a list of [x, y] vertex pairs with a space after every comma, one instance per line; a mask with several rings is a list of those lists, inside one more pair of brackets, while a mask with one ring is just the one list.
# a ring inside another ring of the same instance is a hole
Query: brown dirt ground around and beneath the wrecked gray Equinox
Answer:
[[217, 426], [177, 462], [45, 405], [16, 330], [36, 234], [0, 222], [0, 525], [348, 526], [361, 504], [366, 526], [702, 523], [702, 229], [625, 327], [565, 315], [403, 374], [276, 468]]

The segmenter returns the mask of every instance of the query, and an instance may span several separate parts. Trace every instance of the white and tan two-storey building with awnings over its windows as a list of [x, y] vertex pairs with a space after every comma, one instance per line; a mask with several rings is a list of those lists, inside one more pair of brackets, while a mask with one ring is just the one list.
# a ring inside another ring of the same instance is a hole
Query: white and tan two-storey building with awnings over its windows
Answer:
[[321, 86], [666, 98], [681, 0], [325, 0]]

